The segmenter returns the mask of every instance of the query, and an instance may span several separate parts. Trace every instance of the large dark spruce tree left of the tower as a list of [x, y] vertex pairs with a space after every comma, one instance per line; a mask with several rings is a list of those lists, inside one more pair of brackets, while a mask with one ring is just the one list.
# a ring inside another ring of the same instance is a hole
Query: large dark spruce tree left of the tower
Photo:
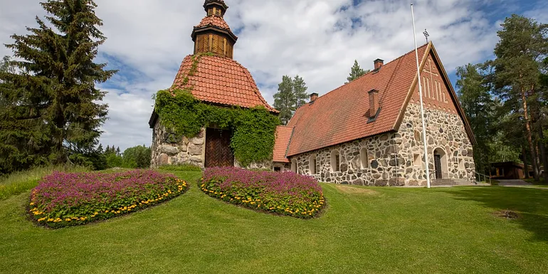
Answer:
[[[0, 142], [56, 164], [93, 153], [107, 115], [107, 105], [100, 103], [105, 92], [95, 83], [105, 82], [115, 70], [93, 63], [105, 42], [93, 0], [48, 0], [41, 5], [49, 24], [37, 16], [37, 28], [27, 28], [26, 36], [11, 36], [14, 43], [6, 45], [23, 60], [12, 62], [21, 73], [0, 74], [10, 85], [4, 89], [8, 97], [18, 98], [11, 102], [12, 124], [0, 128]], [[6, 137], [10, 131], [31, 137], [28, 145], [18, 147], [19, 139]]]

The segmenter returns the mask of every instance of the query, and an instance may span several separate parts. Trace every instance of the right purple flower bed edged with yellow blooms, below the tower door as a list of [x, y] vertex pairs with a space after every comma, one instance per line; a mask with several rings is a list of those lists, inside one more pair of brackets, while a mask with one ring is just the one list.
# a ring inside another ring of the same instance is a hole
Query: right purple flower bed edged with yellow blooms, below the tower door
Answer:
[[199, 185], [206, 194], [222, 201], [297, 218], [315, 217], [325, 206], [317, 181], [293, 172], [215, 167], [206, 169]]

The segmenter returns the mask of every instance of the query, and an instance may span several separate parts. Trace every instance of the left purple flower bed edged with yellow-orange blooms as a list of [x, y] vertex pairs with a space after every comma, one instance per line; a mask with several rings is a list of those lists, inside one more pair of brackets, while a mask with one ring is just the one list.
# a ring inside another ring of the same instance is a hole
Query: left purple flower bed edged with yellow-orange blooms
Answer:
[[176, 176], [152, 170], [112, 174], [55, 172], [33, 189], [29, 211], [45, 226], [75, 226], [159, 204], [188, 188]]

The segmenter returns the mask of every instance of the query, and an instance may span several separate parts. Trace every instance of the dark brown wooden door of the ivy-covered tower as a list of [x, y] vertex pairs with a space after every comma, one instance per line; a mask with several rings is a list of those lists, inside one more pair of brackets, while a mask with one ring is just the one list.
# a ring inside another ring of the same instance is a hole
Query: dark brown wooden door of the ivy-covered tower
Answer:
[[208, 128], [206, 130], [206, 167], [233, 167], [231, 132]]

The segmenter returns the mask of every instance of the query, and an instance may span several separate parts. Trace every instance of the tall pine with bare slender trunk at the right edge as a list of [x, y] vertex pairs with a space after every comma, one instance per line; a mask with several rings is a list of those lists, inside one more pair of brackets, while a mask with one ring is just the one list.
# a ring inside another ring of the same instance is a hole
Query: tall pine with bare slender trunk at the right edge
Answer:
[[525, 137], [534, 169], [539, 179], [539, 163], [532, 128], [532, 107], [539, 88], [542, 58], [548, 54], [548, 26], [523, 16], [512, 15], [497, 32], [495, 46], [495, 88], [505, 104], [514, 107], [525, 125]]

